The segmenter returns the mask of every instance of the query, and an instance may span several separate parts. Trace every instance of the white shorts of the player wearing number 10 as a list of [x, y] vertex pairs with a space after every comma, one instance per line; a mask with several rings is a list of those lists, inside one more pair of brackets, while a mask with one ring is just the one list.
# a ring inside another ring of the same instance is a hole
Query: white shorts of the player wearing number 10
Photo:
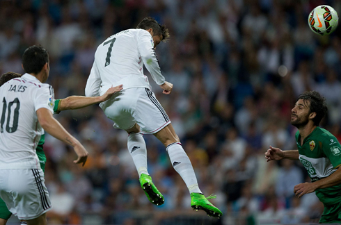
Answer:
[[35, 219], [51, 209], [42, 169], [0, 169], [0, 197], [19, 219]]

